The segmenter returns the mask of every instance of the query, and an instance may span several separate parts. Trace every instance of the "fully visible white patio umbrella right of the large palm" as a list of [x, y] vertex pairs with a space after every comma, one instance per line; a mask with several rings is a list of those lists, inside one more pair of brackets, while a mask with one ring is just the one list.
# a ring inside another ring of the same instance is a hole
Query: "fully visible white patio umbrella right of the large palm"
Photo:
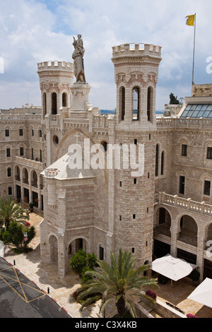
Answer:
[[175, 259], [168, 254], [161, 259], [155, 259], [151, 268], [153, 271], [158, 272], [171, 280], [177, 281], [192, 273], [196, 267], [196, 265], [190, 264], [187, 261], [184, 261], [184, 259]]

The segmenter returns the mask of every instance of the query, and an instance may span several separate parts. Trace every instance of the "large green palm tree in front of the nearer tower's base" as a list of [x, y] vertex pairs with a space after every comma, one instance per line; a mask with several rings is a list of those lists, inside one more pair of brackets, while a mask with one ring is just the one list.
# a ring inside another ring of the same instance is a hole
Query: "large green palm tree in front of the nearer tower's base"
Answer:
[[119, 249], [118, 259], [115, 254], [111, 254], [110, 260], [111, 265], [106, 261], [98, 261], [99, 268], [96, 271], [86, 272], [86, 275], [90, 275], [93, 279], [88, 280], [78, 294], [78, 300], [86, 298], [80, 311], [93, 303], [96, 295], [101, 293], [100, 312], [105, 309], [108, 302], [115, 300], [119, 318], [124, 318], [126, 309], [129, 310], [132, 317], [136, 317], [136, 309], [130, 297], [145, 296], [141, 295], [140, 291], [147, 286], [158, 286], [157, 280], [143, 276], [143, 272], [147, 271], [150, 266], [134, 268], [136, 259], [131, 259], [130, 252], [123, 253], [122, 249]]

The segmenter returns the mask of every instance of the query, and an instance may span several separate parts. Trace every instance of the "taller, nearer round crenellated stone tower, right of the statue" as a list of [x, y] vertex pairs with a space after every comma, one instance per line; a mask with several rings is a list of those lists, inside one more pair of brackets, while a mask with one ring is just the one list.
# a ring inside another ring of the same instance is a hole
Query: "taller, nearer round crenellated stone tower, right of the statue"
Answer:
[[[109, 212], [109, 222], [114, 227], [115, 251], [119, 248], [131, 251], [140, 265], [152, 261], [155, 91], [160, 61], [161, 47], [155, 45], [126, 44], [113, 47], [117, 109], [109, 143], [123, 147], [123, 158], [124, 146], [135, 145], [136, 162], [140, 164], [140, 170], [133, 172], [131, 167], [123, 167], [110, 171], [109, 200], [114, 209], [109, 208], [112, 211]], [[133, 155], [129, 152], [131, 158]]]

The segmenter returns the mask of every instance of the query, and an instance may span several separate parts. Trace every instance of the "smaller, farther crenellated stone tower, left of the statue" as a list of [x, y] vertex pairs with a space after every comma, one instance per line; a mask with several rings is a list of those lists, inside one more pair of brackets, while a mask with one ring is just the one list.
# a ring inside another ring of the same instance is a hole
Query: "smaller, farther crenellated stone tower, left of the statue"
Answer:
[[59, 117], [67, 117], [68, 109], [71, 108], [73, 64], [65, 61], [46, 61], [37, 64], [37, 73], [40, 77], [42, 124], [46, 140], [44, 157], [48, 166], [54, 160], [52, 142], [55, 136], [54, 131], [49, 129], [49, 123], [57, 126]]

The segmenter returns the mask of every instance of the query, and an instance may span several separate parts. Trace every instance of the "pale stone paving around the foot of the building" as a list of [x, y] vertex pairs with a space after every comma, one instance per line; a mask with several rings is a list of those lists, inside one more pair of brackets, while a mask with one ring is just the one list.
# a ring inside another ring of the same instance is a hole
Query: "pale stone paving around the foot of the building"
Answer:
[[[42, 213], [30, 213], [29, 221], [31, 225], [35, 226], [36, 230], [36, 237], [30, 242], [33, 251], [30, 251], [28, 254], [16, 255], [11, 251], [11, 246], [8, 245], [5, 248], [4, 255], [6, 261], [13, 264], [15, 260], [16, 268], [23, 272], [26, 277], [45, 292], [49, 288], [49, 296], [64, 307], [74, 318], [99, 318], [99, 303], [84, 309], [82, 313], [79, 312], [81, 305], [76, 303], [72, 296], [73, 292], [81, 286], [77, 275], [74, 275], [70, 270], [66, 277], [59, 278], [57, 275], [57, 263], [40, 262], [39, 224], [42, 221]], [[159, 289], [153, 291], [156, 292], [159, 300], [174, 304], [179, 309], [182, 309], [185, 314], [194, 314], [199, 318], [212, 318], [211, 308], [187, 299], [194, 289], [192, 281], [184, 278], [173, 282], [172, 285], [170, 282], [166, 285], [160, 285]], [[106, 317], [112, 317], [115, 313], [114, 309], [113, 306], [107, 307]]]

